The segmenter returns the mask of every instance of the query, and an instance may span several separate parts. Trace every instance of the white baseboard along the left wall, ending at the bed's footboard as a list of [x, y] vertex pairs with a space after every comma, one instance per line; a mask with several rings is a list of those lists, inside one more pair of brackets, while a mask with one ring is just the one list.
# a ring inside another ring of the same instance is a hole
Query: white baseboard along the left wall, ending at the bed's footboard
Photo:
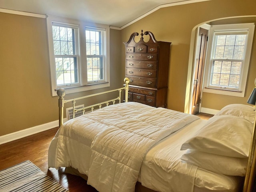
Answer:
[[58, 127], [58, 126], [59, 126], [59, 120], [56, 120], [56, 121], [49, 122], [49, 123], [46, 123], [46, 124], [34, 126], [34, 127], [31, 127], [31, 128], [27, 128], [27, 129], [24, 129], [24, 130], [13, 132], [13, 133], [10, 133], [10, 134], [7, 134], [7, 135], [3, 135], [3, 136], [0, 136], [0, 144], [4, 144], [4, 143], [10, 142], [10, 141], [14, 141], [14, 140], [17, 140], [17, 139], [20, 139], [20, 138], [24, 138], [26, 136], [30, 136], [32, 134], [36, 134], [36, 133], [39, 133], [39, 132], [42, 132], [42, 131], [46, 131], [46, 130], [49, 130], [49, 129], [52, 129], [52, 128], [55, 128], [55, 127]]

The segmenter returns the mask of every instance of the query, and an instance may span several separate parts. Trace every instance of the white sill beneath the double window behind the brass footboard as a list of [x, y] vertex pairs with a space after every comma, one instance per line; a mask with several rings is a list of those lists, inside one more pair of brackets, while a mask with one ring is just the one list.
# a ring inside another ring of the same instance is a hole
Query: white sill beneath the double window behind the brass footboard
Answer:
[[[97, 83], [97, 84], [88, 84], [88, 85], [84, 85], [84, 86], [67, 87], [67, 88], [63, 88], [63, 89], [65, 89], [66, 94], [69, 94], [69, 93], [76, 93], [76, 92], [100, 89], [100, 88], [109, 87], [109, 86], [110, 86], [110, 82], [102, 82], [102, 83]], [[52, 96], [57, 96], [57, 90], [58, 89], [54, 89], [52, 91]]]

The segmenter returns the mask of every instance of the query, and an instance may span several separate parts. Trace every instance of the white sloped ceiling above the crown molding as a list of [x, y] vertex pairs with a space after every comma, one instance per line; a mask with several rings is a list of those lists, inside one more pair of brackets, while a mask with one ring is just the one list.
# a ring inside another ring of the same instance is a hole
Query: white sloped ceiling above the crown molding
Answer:
[[162, 6], [206, 0], [0, 0], [0, 8], [122, 27]]

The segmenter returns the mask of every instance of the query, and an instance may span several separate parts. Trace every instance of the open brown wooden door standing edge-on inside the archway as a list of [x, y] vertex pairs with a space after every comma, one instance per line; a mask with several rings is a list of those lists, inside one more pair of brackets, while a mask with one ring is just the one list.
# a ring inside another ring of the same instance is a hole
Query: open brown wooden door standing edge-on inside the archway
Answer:
[[208, 40], [208, 30], [199, 28], [199, 34], [196, 42], [196, 66], [194, 68], [194, 85], [192, 95], [191, 114], [195, 115], [199, 112], [202, 92], [203, 69], [206, 57], [206, 48]]

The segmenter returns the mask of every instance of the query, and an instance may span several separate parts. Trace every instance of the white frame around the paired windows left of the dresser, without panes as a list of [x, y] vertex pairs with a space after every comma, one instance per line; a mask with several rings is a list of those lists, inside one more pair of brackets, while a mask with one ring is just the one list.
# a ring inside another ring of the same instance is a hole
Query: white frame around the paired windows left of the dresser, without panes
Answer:
[[[56, 83], [56, 67], [55, 67], [55, 56], [54, 56], [54, 46], [52, 37], [52, 25], [58, 24], [62, 26], [70, 26], [77, 29], [77, 40], [76, 45], [77, 51], [77, 65], [78, 65], [78, 78], [79, 84], [75, 86], [57, 86]], [[86, 37], [85, 30], [86, 27], [98, 28], [105, 30], [106, 36], [102, 39], [104, 41], [104, 81], [101, 82], [87, 82], [87, 62], [86, 62]], [[110, 86], [110, 58], [109, 58], [109, 26], [103, 24], [92, 24], [81, 22], [78, 20], [71, 20], [67, 18], [60, 18], [55, 16], [47, 16], [47, 32], [48, 32], [48, 45], [49, 45], [49, 57], [50, 57], [50, 72], [51, 72], [51, 86], [52, 86], [52, 96], [57, 95], [58, 88], [64, 88], [66, 93], [81, 92], [86, 90], [93, 90], [98, 88], [104, 88]]]

